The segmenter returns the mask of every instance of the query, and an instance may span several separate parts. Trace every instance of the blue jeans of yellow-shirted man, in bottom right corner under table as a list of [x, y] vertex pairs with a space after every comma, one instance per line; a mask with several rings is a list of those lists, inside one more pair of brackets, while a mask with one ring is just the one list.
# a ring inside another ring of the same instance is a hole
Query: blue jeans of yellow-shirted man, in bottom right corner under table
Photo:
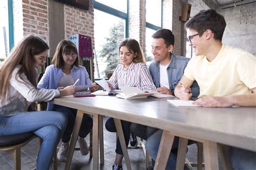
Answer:
[[256, 152], [230, 147], [230, 159], [233, 169], [256, 169]]

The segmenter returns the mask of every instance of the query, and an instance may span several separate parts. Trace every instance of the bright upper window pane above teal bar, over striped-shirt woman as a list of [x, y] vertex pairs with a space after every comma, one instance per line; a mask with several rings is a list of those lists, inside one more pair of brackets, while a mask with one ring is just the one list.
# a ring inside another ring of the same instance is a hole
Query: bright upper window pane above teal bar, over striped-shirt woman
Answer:
[[113, 9], [127, 13], [127, 0], [96, 0], [99, 3], [110, 6]]

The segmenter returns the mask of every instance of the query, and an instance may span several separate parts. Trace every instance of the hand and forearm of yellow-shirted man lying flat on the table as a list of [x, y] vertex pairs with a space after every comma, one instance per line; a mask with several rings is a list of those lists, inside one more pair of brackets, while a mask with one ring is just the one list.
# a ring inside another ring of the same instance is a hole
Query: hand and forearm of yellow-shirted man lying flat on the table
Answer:
[[194, 101], [193, 104], [202, 105], [203, 107], [223, 108], [231, 107], [233, 103], [228, 96], [225, 97], [202, 97]]

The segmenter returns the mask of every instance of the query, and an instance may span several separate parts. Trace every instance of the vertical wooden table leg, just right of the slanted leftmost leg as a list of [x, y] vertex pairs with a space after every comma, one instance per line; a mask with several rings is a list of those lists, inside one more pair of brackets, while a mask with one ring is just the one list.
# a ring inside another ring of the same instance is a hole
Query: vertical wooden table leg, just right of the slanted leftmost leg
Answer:
[[99, 167], [99, 115], [93, 114], [92, 128], [92, 169]]

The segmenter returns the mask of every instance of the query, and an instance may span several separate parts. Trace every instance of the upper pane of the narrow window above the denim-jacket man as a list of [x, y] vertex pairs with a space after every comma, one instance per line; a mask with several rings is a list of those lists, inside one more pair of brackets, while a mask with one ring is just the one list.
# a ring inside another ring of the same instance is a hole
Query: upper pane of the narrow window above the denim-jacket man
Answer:
[[161, 27], [161, 0], [146, 0], [146, 22]]

